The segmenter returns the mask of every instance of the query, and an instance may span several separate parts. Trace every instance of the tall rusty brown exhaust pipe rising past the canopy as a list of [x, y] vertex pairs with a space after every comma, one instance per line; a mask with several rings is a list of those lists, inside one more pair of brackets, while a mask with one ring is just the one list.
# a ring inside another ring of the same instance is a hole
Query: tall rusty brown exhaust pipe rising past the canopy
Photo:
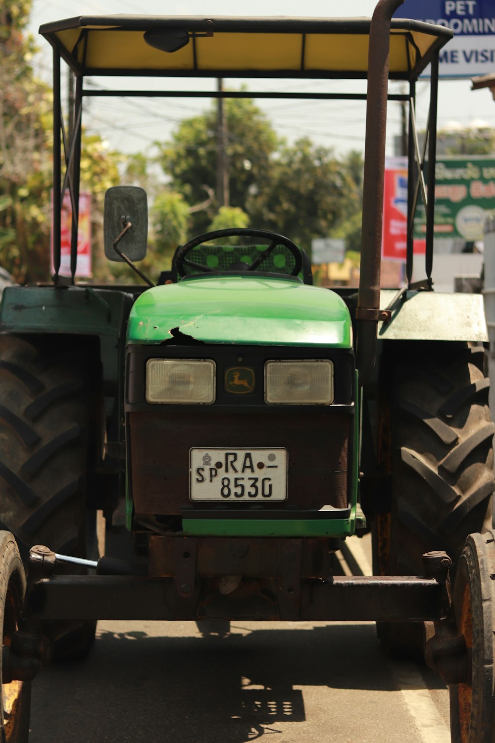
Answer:
[[[380, 306], [381, 226], [387, 129], [390, 21], [404, 0], [379, 0], [370, 27], [366, 143], [364, 147], [361, 276], [358, 292], [357, 365], [361, 385], [375, 365], [377, 321]], [[371, 312], [370, 312], [371, 311]]]

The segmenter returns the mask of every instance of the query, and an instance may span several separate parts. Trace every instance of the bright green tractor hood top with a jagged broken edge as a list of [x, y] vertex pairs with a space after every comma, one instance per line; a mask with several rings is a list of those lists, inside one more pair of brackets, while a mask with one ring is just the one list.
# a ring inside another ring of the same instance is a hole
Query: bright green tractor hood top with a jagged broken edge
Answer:
[[353, 345], [344, 300], [289, 279], [201, 276], [154, 287], [131, 310], [128, 343], [163, 343], [175, 328], [205, 343]]

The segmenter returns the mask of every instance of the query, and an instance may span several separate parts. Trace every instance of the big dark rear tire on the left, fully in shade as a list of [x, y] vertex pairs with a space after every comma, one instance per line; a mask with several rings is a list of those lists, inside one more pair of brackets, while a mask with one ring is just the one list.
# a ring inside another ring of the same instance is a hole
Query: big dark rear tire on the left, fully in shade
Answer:
[[[62, 337], [0, 337], [0, 528], [16, 536], [26, 568], [36, 544], [96, 556], [96, 514], [86, 508], [85, 490], [89, 355]], [[47, 629], [61, 635], [57, 655], [80, 655], [91, 647], [96, 623]]]

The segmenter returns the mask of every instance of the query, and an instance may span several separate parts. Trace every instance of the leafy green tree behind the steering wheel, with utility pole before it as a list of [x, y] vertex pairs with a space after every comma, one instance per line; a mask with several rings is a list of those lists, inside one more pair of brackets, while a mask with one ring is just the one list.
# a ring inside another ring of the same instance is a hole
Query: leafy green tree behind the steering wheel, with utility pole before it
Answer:
[[[307, 137], [291, 146], [278, 139], [252, 100], [226, 99], [225, 104], [231, 206], [242, 210], [253, 227], [283, 233], [308, 252], [312, 238], [332, 236], [344, 237], [351, 249], [359, 250], [361, 154], [337, 158], [332, 149]], [[171, 140], [160, 146], [165, 175], [189, 204], [202, 200], [205, 184], [216, 182], [216, 126], [213, 105], [180, 123]], [[231, 212], [215, 218], [215, 212], [212, 204], [191, 215], [191, 233], [205, 232], [212, 221], [228, 227], [228, 218], [235, 218]]]

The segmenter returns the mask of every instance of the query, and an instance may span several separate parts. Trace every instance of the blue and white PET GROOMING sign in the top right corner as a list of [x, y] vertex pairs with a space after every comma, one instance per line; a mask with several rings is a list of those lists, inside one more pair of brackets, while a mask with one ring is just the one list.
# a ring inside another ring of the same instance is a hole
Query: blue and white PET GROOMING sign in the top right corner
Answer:
[[495, 0], [406, 0], [396, 15], [453, 30], [440, 50], [440, 77], [473, 77], [494, 71]]

